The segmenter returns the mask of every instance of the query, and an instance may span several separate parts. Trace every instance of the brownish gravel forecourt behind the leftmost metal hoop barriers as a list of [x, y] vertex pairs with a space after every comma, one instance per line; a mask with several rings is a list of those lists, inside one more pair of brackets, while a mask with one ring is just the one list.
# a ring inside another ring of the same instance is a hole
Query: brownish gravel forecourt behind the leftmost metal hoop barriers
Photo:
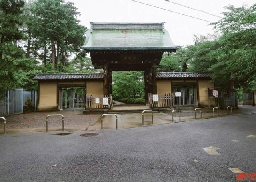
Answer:
[[[45, 118], [49, 112], [31, 112], [26, 114], [11, 115], [6, 117], [8, 129], [21, 129], [21, 128], [41, 128], [45, 127]], [[94, 125], [100, 118], [99, 114], [82, 115], [69, 113], [53, 113], [63, 114], [65, 127], [87, 127]], [[49, 127], [61, 127], [62, 122], [60, 117], [49, 117]], [[0, 128], [3, 128], [3, 122], [0, 122]]]

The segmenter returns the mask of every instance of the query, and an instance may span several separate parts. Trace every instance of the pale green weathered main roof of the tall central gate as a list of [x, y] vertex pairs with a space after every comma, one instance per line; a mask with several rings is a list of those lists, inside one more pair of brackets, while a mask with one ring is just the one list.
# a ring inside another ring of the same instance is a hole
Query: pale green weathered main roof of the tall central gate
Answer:
[[85, 50], [176, 50], [164, 23], [91, 23]]

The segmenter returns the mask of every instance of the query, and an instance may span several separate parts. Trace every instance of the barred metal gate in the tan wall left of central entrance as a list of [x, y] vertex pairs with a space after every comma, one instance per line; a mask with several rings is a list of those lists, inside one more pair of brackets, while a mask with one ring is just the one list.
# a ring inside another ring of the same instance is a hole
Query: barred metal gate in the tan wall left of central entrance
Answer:
[[60, 108], [84, 108], [85, 107], [85, 88], [61, 88]]

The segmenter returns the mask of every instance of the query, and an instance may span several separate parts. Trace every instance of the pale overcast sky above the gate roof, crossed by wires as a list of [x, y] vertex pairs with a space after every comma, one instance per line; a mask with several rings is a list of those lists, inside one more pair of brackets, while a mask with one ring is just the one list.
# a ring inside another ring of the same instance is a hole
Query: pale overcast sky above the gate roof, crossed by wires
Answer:
[[[194, 43], [193, 35], [206, 35], [214, 33], [208, 22], [182, 16], [176, 13], [146, 6], [131, 0], [69, 0], [74, 2], [81, 16], [80, 23], [90, 29], [89, 22], [166, 22], [165, 29], [169, 31], [172, 41], [176, 45], [191, 45]], [[137, 0], [168, 10], [188, 14], [210, 22], [219, 18], [202, 12], [172, 4], [165, 0]], [[224, 6], [229, 4], [235, 7], [247, 4], [251, 6], [255, 0], [171, 0], [186, 6], [204, 10], [218, 16], [224, 12]]]

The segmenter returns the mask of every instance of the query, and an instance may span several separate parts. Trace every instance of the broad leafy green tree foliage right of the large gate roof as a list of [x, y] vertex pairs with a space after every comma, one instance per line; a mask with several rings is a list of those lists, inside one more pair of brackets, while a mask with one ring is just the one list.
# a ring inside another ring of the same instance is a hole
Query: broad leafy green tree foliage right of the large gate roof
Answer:
[[[179, 63], [182, 71], [187, 65], [188, 71], [212, 72], [216, 86], [226, 90], [256, 90], [256, 4], [226, 10], [224, 18], [212, 23], [215, 35], [196, 35], [194, 45], [179, 49], [169, 59]], [[164, 66], [167, 71], [175, 67]]]

